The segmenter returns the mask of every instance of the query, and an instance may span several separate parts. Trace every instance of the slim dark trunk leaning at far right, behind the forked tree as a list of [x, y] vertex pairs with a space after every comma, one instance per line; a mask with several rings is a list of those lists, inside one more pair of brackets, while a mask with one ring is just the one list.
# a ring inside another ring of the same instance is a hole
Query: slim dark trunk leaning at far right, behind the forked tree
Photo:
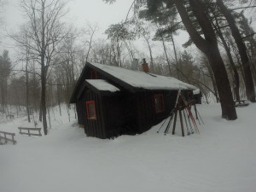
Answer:
[[250, 69], [250, 61], [247, 55], [247, 47], [242, 41], [241, 34], [236, 26], [236, 20], [231, 15], [230, 10], [227, 9], [223, 3], [222, 0], [216, 1], [218, 4], [218, 7], [221, 11], [221, 13], [224, 15], [226, 20], [229, 23], [230, 30], [232, 33], [233, 38], [235, 39], [237, 48], [239, 50], [239, 55], [241, 57], [241, 63], [243, 67], [243, 71], [245, 73], [245, 86], [246, 86], [246, 93], [247, 93], [247, 99], [250, 102], [256, 102], [255, 101], [255, 89], [253, 85], [253, 77]]

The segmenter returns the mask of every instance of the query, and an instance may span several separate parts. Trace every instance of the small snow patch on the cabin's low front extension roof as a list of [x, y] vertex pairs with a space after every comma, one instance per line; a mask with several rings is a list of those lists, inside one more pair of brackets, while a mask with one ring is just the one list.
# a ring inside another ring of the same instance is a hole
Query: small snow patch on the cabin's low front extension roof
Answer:
[[103, 79], [86, 79], [85, 81], [94, 86], [97, 90], [104, 90], [110, 92], [119, 91], [119, 88], [113, 86], [113, 84], [109, 84], [107, 81]]

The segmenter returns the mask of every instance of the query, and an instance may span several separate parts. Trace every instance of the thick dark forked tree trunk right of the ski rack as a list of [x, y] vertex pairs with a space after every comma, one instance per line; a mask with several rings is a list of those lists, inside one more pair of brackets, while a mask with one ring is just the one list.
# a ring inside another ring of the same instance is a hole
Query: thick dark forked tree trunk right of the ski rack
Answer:
[[212, 67], [212, 72], [218, 88], [218, 96], [222, 108], [222, 118], [229, 120], [237, 119], [228, 75], [224, 67], [224, 61], [219, 54], [217, 38], [212, 28], [211, 21], [207, 17], [205, 7], [198, 0], [189, 0], [191, 9], [205, 36], [205, 38], [202, 38], [190, 20], [183, 2], [180, 0], [174, 0], [174, 3], [176, 4], [177, 11], [181, 16], [181, 19], [183, 20], [184, 26], [189, 32], [189, 36], [192, 38], [197, 48], [201, 49], [201, 51], [207, 55], [207, 59]]

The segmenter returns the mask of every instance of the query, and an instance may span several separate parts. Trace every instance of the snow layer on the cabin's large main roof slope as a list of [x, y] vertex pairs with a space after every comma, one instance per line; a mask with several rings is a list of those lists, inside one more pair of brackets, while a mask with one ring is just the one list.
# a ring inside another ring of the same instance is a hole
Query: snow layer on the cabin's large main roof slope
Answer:
[[146, 90], [197, 90], [195, 86], [183, 83], [182, 81], [172, 77], [132, 71], [122, 67], [113, 67], [98, 63], [90, 64], [117, 79], [121, 79], [126, 84], [130, 84], [137, 88], [143, 88]]

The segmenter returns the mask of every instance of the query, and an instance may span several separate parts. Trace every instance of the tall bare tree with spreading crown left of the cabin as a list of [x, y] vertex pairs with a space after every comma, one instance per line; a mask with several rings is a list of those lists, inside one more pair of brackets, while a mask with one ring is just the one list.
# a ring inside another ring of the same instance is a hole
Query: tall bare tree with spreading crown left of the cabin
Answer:
[[[41, 109], [44, 135], [47, 135], [46, 120], [46, 81], [51, 62], [58, 53], [58, 46], [67, 37], [67, 27], [61, 21], [67, 14], [67, 0], [21, 0], [21, 9], [28, 20], [27, 27], [21, 29], [29, 41], [12, 35], [21, 46], [29, 49], [32, 58], [40, 66], [41, 76]], [[29, 42], [29, 44], [28, 44]]]

